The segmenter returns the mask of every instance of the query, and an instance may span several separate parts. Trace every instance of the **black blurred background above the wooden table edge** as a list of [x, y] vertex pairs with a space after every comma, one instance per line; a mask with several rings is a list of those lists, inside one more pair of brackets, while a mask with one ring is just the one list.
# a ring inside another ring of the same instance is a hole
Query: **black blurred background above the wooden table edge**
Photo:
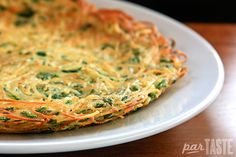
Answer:
[[236, 22], [236, 0], [127, 0], [182, 22]]

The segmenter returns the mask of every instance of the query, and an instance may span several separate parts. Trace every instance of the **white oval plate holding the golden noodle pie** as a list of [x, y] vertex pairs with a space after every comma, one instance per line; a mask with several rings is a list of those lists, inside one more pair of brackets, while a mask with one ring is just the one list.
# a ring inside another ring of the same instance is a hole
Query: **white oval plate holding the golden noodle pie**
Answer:
[[114, 122], [53, 134], [0, 134], [0, 153], [47, 153], [111, 146], [173, 128], [203, 111], [219, 94], [224, 69], [215, 49], [183, 24], [160, 13], [112, 0], [91, 0], [99, 7], [122, 9], [138, 20], [152, 21], [188, 55], [189, 73], [159, 100]]

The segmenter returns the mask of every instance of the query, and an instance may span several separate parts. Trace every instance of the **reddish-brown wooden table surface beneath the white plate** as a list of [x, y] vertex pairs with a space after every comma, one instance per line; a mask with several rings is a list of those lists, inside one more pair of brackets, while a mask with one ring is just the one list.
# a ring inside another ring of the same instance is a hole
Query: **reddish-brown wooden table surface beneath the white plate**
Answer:
[[205, 139], [211, 139], [212, 143], [216, 139], [230, 141], [229, 144], [232, 146], [230, 152], [234, 153], [231, 156], [236, 156], [236, 24], [187, 23], [187, 25], [200, 33], [217, 49], [225, 67], [224, 88], [215, 102], [204, 112], [173, 129], [126, 144], [78, 152], [17, 156], [208, 156], [206, 151], [182, 154], [185, 144], [204, 145]]

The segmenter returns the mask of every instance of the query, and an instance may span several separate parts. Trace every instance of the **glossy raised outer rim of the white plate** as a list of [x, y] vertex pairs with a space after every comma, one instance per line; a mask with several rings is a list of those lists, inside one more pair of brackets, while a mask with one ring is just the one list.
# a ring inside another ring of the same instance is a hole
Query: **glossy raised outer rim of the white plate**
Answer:
[[[195, 107], [191, 108], [190, 110], [186, 111], [183, 114], [180, 114], [168, 121], [160, 123], [162, 126], [161, 128], [160, 125], [158, 126], [152, 126], [152, 127], [145, 127], [144, 129], [139, 129], [138, 131], [130, 131], [128, 133], [123, 133], [119, 135], [110, 135], [106, 136], [106, 139], [104, 138], [96, 138], [96, 139], [86, 139], [85, 143], [82, 147], [75, 147], [76, 144], [80, 143], [78, 140], [73, 140], [73, 141], [67, 141], [67, 142], [45, 142], [45, 143], [2, 143], [0, 140], [0, 148], [8, 148], [8, 149], [2, 149], [0, 150], [0, 153], [4, 154], [36, 154], [36, 153], [54, 153], [54, 152], [69, 152], [69, 151], [79, 151], [79, 150], [88, 150], [88, 149], [94, 149], [94, 148], [102, 148], [106, 146], [113, 146], [117, 144], [122, 144], [122, 143], [127, 143], [135, 140], [139, 140], [148, 136], [152, 136], [158, 133], [161, 133], [163, 131], [166, 131], [168, 129], [174, 128], [190, 119], [192, 119], [194, 116], [198, 115], [200, 112], [205, 110], [220, 94], [223, 85], [224, 85], [224, 79], [225, 79], [225, 72], [224, 72], [224, 66], [223, 63], [220, 59], [219, 54], [215, 50], [215, 48], [206, 40], [204, 39], [201, 35], [199, 35], [197, 32], [189, 28], [188, 26], [184, 25], [183, 23], [167, 16], [164, 15], [158, 11], [154, 11], [152, 9], [149, 9], [147, 7], [132, 3], [132, 2], [127, 2], [127, 1], [117, 1], [117, 0], [112, 0], [112, 3], [123, 3], [123, 5], [132, 5], [136, 9], [141, 9], [145, 12], [148, 12], [150, 14], [153, 14], [155, 16], [160, 17], [162, 20], [168, 21], [171, 25], [174, 25], [175, 27], [178, 27], [178, 29], [184, 30], [194, 38], [196, 38], [198, 41], [201, 41], [205, 45], [205, 47], [208, 48], [209, 51], [213, 54], [214, 59], [216, 60], [217, 63], [217, 69], [219, 71], [218, 74], [218, 79], [215, 83], [214, 88], [209, 92], [207, 97], [201, 101], [198, 105]], [[86, 144], [86, 143], [91, 143], [93, 142], [92, 145]], [[48, 149], [47, 147], [52, 146], [53, 149]], [[65, 146], [66, 145], [66, 146]], [[28, 149], [23, 149], [25, 147], [28, 147]], [[63, 149], [60, 149], [62, 146]], [[39, 147], [43, 147], [38, 149]], [[58, 148], [57, 148], [58, 147]], [[12, 150], [14, 148], [15, 151], [13, 152]], [[47, 149], [45, 149], [47, 148]]]

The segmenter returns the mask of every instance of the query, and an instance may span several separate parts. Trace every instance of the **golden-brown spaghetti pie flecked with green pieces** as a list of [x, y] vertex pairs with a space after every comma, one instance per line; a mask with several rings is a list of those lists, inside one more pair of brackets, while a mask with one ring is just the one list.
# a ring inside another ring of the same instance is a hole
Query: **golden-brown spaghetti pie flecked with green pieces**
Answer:
[[186, 73], [149, 22], [84, 0], [0, 1], [0, 132], [101, 124], [157, 99]]

